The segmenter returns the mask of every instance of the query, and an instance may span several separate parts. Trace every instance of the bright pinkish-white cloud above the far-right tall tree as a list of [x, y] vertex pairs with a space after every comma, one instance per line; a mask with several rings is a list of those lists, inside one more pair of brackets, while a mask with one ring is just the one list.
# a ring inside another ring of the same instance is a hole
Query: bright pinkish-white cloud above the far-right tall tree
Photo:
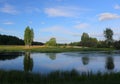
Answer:
[[102, 13], [99, 15], [99, 21], [118, 19], [120, 15], [114, 13]]

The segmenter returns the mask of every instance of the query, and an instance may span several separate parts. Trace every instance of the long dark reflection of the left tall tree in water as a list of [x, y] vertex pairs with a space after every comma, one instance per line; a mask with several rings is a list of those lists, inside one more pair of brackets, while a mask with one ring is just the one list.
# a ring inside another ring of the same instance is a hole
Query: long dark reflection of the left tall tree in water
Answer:
[[30, 57], [30, 52], [25, 52], [24, 56], [24, 71], [29, 72], [33, 69], [33, 59]]

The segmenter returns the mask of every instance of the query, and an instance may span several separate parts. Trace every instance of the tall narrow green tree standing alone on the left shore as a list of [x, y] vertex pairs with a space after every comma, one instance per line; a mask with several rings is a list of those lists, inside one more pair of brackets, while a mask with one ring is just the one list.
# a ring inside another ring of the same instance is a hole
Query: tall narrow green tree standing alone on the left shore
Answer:
[[30, 29], [29, 26], [26, 27], [24, 31], [24, 42], [26, 46], [30, 46], [34, 39], [33, 29]]

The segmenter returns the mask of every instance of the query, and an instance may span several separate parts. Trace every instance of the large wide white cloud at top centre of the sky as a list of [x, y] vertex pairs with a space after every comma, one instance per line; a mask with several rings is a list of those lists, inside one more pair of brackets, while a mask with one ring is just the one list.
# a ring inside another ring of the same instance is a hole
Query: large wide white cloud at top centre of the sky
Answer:
[[79, 8], [77, 7], [51, 7], [45, 8], [45, 13], [50, 17], [77, 17], [80, 13]]

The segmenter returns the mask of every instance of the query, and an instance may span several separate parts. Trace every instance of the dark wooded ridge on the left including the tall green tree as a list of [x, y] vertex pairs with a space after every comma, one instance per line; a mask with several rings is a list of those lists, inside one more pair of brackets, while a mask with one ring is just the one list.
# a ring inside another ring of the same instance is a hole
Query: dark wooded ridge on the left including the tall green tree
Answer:
[[44, 45], [42, 42], [33, 41], [34, 32], [33, 29], [30, 29], [29, 26], [26, 27], [24, 40], [19, 39], [16, 36], [1, 35], [0, 34], [0, 45]]

